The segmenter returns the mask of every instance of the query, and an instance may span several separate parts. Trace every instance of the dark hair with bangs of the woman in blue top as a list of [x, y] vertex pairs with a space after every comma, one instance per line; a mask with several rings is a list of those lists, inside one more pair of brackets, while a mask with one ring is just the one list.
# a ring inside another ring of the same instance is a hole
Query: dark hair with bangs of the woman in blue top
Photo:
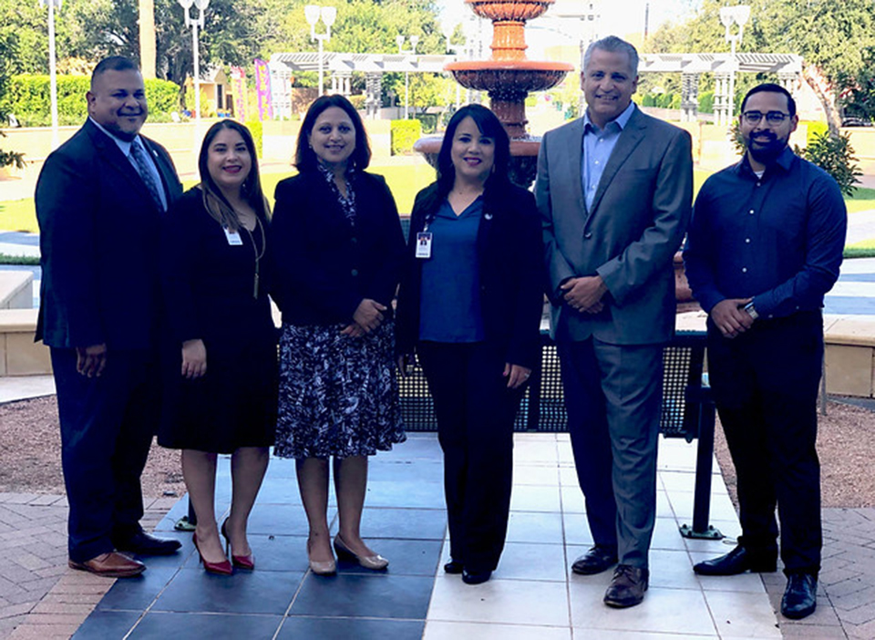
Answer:
[[498, 116], [482, 105], [465, 105], [459, 108], [449, 119], [444, 140], [438, 152], [438, 194], [446, 197], [452, 191], [456, 181], [456, 167], [453, 165], [453, 137], [456, 135], [459, 123], [470, 118], [484, 136], [495, 141], [495, 157], [492, 163], [492, 173], [486, 181], [489, 190], [496, 183], [510, 182], [510, 138]]

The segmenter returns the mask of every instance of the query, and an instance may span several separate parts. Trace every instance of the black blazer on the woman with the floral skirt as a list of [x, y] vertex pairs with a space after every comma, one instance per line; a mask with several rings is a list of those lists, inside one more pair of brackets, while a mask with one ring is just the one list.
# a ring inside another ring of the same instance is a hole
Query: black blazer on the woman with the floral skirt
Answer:
[[364, 171], [355, 173], [353, 191], [355, 228], [318, 170], [276, 185], [268, 245], [283, 323], [349, 323], [365, 298], [391, 313], [404, 260], [395, 199], [382, 176]]

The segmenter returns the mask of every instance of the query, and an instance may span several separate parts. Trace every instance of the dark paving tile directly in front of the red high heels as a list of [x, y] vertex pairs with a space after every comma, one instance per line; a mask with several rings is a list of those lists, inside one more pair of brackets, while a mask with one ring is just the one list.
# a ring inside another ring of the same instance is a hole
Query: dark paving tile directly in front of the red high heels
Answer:
[[153, 611], [282, 615], [298, 591], [301, 572], [236, 572], [212, 575], [185, 569], [174, 577]]

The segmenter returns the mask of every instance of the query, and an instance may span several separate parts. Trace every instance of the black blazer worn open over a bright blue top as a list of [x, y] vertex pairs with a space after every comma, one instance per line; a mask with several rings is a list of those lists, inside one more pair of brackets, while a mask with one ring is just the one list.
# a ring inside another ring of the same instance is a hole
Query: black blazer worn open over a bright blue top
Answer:
[[[407, 260], [398, 291], [396, 344], [399, 354], [413, 353], [419, 338], [422, 259], [416, 257], [417, 232], [443, 199], [438, 183], [419, 191], [410, 218]], [[512, 365], [540, 361], [540, 316], [543, 312], [543, 246], [535, 199], [514, 185], [484, 193], [477, 235], [480, 305], [486, 340], [503, 349]]]

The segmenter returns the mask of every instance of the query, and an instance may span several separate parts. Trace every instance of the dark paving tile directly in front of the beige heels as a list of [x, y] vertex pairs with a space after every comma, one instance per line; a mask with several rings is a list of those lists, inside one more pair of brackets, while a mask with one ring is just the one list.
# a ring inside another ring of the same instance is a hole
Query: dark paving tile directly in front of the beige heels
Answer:
[[308, 573], [290, 614], [425, 619], [433, 583], [430, 576]]

